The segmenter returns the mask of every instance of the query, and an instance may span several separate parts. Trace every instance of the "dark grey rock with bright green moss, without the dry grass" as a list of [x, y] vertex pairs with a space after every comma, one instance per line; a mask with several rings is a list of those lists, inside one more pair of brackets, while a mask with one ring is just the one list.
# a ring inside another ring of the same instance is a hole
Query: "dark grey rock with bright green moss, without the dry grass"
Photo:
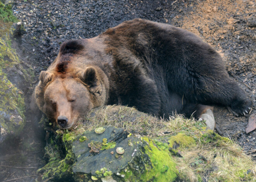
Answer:
[[[154, 140], [147, 137], [138, 138], [129, 134], [115, 127], [107, 127], [102, 134], [85, 131], [76, 137], [67, 132], [59, 133], [67, 155], [59, 162], [52, 161], [44, 167], [43, 179], [53, 177], [56, 181], [86, 182], [111, 177], [112, 180], [130, 182], [174, 181], [178, 171], [168, 148], [159, 148]], [[81, 142], [79, 139], [82, 136], [86, 136], [86, 140]], [[104, 143], [104, 139], [114, 145], [111, 144], [108, 149], [100, 145], [97, 152], [88, 147], [92, 142]], [[125, 153], [118, 154], [118, 147], [122, 147]]]

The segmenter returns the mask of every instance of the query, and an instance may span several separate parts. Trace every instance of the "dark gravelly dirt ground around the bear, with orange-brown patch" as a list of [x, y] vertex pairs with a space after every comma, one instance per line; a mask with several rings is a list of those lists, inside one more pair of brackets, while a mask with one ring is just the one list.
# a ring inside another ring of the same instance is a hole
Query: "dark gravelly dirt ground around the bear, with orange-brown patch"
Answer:
[[[223, 56], [230, 77], [246, 90], [254, 104], [250, 114], [242, 117], [235, 117], [226, 108], [216, 106], [216, 132], [235, 140], [256, 159], [256, 131], [245, 133], [249, 116], [256, 113], [254, 1], [14, 0], [13, 10], [14, 15], [26, 23], [27, 34], [20, 39], [17, 37], [17, 41], [21, 58], [35, 70], [33, 84], [38, 81], [40, 71], [46, 70], [54, 61], [62, 42], [97, 36], [125, 20], [149, 19], [194, 32]], [[35, 181], [36, 169], [43, 165], [45, 143], [42, 135], [45, 133], [38, 128], [40, 132], [33, 132], [36, 126], [31, 123], [35, 119], [29, 116], [29, 111], [27, 117], [23, 137], [15, 139], [16, 143], [6, 148], [7, 155], [0, 156], [0, 165], [22, 168], [0, 166], [0, 170], [4, 170], [0, 181], [15, 178], [19, 178], [16, 181]], [[14, 163], [16, 160], [21, 162]]]

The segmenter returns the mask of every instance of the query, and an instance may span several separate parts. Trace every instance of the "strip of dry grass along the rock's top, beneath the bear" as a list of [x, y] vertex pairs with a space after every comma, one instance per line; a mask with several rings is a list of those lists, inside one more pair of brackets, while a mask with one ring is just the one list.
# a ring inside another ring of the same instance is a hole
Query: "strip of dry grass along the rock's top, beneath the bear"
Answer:
[[195, 119], [185, 119], [182, 115], [162, 119], [139, 112], [133, 107], [107, 105], [93, 109], [85, 121], [78, 121], [77, 126], [71, 130], [81, 133], [99, 126], [114, 126], [131, 133], [156, 137], [188, 130], [195, 124]]

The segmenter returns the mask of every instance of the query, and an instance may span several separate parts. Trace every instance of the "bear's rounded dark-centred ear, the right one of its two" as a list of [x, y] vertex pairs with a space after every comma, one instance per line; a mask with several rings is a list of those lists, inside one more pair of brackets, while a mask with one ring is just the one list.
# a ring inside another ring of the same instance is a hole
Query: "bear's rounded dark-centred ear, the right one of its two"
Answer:
[[97, 85], [97, 72], [95, 68], [88, 67], [85, 71], [80, 71], [78, 73], [78, 78], [80, 78], [84, 83], [89, 85], [90, 87]]

